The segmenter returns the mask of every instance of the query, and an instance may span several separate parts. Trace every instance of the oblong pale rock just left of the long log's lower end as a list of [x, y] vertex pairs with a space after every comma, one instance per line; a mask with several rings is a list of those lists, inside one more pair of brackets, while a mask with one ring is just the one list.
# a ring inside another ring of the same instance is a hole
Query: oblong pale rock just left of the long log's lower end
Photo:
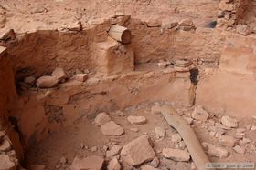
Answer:
[[164, 148], [162, 151], [165, 158], [173, 159], [175, 161], [189, 161], [190, 155], [187, 151], [173, 148]]

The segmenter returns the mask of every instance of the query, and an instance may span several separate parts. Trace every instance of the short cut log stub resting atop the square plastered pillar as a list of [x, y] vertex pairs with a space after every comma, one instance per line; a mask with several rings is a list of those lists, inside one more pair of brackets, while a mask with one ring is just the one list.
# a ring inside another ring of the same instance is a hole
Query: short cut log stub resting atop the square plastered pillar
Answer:
[[123, 44], [129, 44], [131, 42], [131, 31], [120, 25], [112, 25], [109, 36]]

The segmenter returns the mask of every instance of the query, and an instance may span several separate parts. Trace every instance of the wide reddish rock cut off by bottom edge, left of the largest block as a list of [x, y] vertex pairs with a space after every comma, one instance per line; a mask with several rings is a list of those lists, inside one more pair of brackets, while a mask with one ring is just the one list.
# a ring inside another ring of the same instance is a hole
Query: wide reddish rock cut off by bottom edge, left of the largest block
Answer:
[[104, 159], [101, 156], [91, 155], [80, 159], [75, 157], [71, 165], [72, 170], [101, 170]]

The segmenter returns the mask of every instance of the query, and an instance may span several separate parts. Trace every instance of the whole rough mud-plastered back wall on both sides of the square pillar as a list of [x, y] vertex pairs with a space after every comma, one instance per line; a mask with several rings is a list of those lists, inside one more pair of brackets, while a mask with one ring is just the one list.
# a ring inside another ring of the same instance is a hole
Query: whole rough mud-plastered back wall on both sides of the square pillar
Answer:
[[[224, 37], [218, 30], [200, 29], [186, 32], [161, 27], [147, 27], [130, 17], [117, 18], [119, 25], [132, 30], [135, 63], [155, 62], [175, 58], [219, 58]], [[27, 75], [48, 75], [56, 66], [69, 72], [97, 67], [93, 43], [107, 41], [111, 20], [91, 26], [81, 32], [37, 31], [25, 34], [8, 48], [16, 70], [16, 78]]]

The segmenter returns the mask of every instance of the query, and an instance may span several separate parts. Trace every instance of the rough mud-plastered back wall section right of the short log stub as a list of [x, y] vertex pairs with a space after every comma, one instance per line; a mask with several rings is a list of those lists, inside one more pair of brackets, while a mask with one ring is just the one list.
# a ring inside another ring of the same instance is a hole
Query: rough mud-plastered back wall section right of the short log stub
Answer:
[[219, 58], [225, 36], [219, 30], [198, 28], [194, 31], [147, 27], [134, 20], [128, 27], [133, 33], [135, 63], [159, 59]]

